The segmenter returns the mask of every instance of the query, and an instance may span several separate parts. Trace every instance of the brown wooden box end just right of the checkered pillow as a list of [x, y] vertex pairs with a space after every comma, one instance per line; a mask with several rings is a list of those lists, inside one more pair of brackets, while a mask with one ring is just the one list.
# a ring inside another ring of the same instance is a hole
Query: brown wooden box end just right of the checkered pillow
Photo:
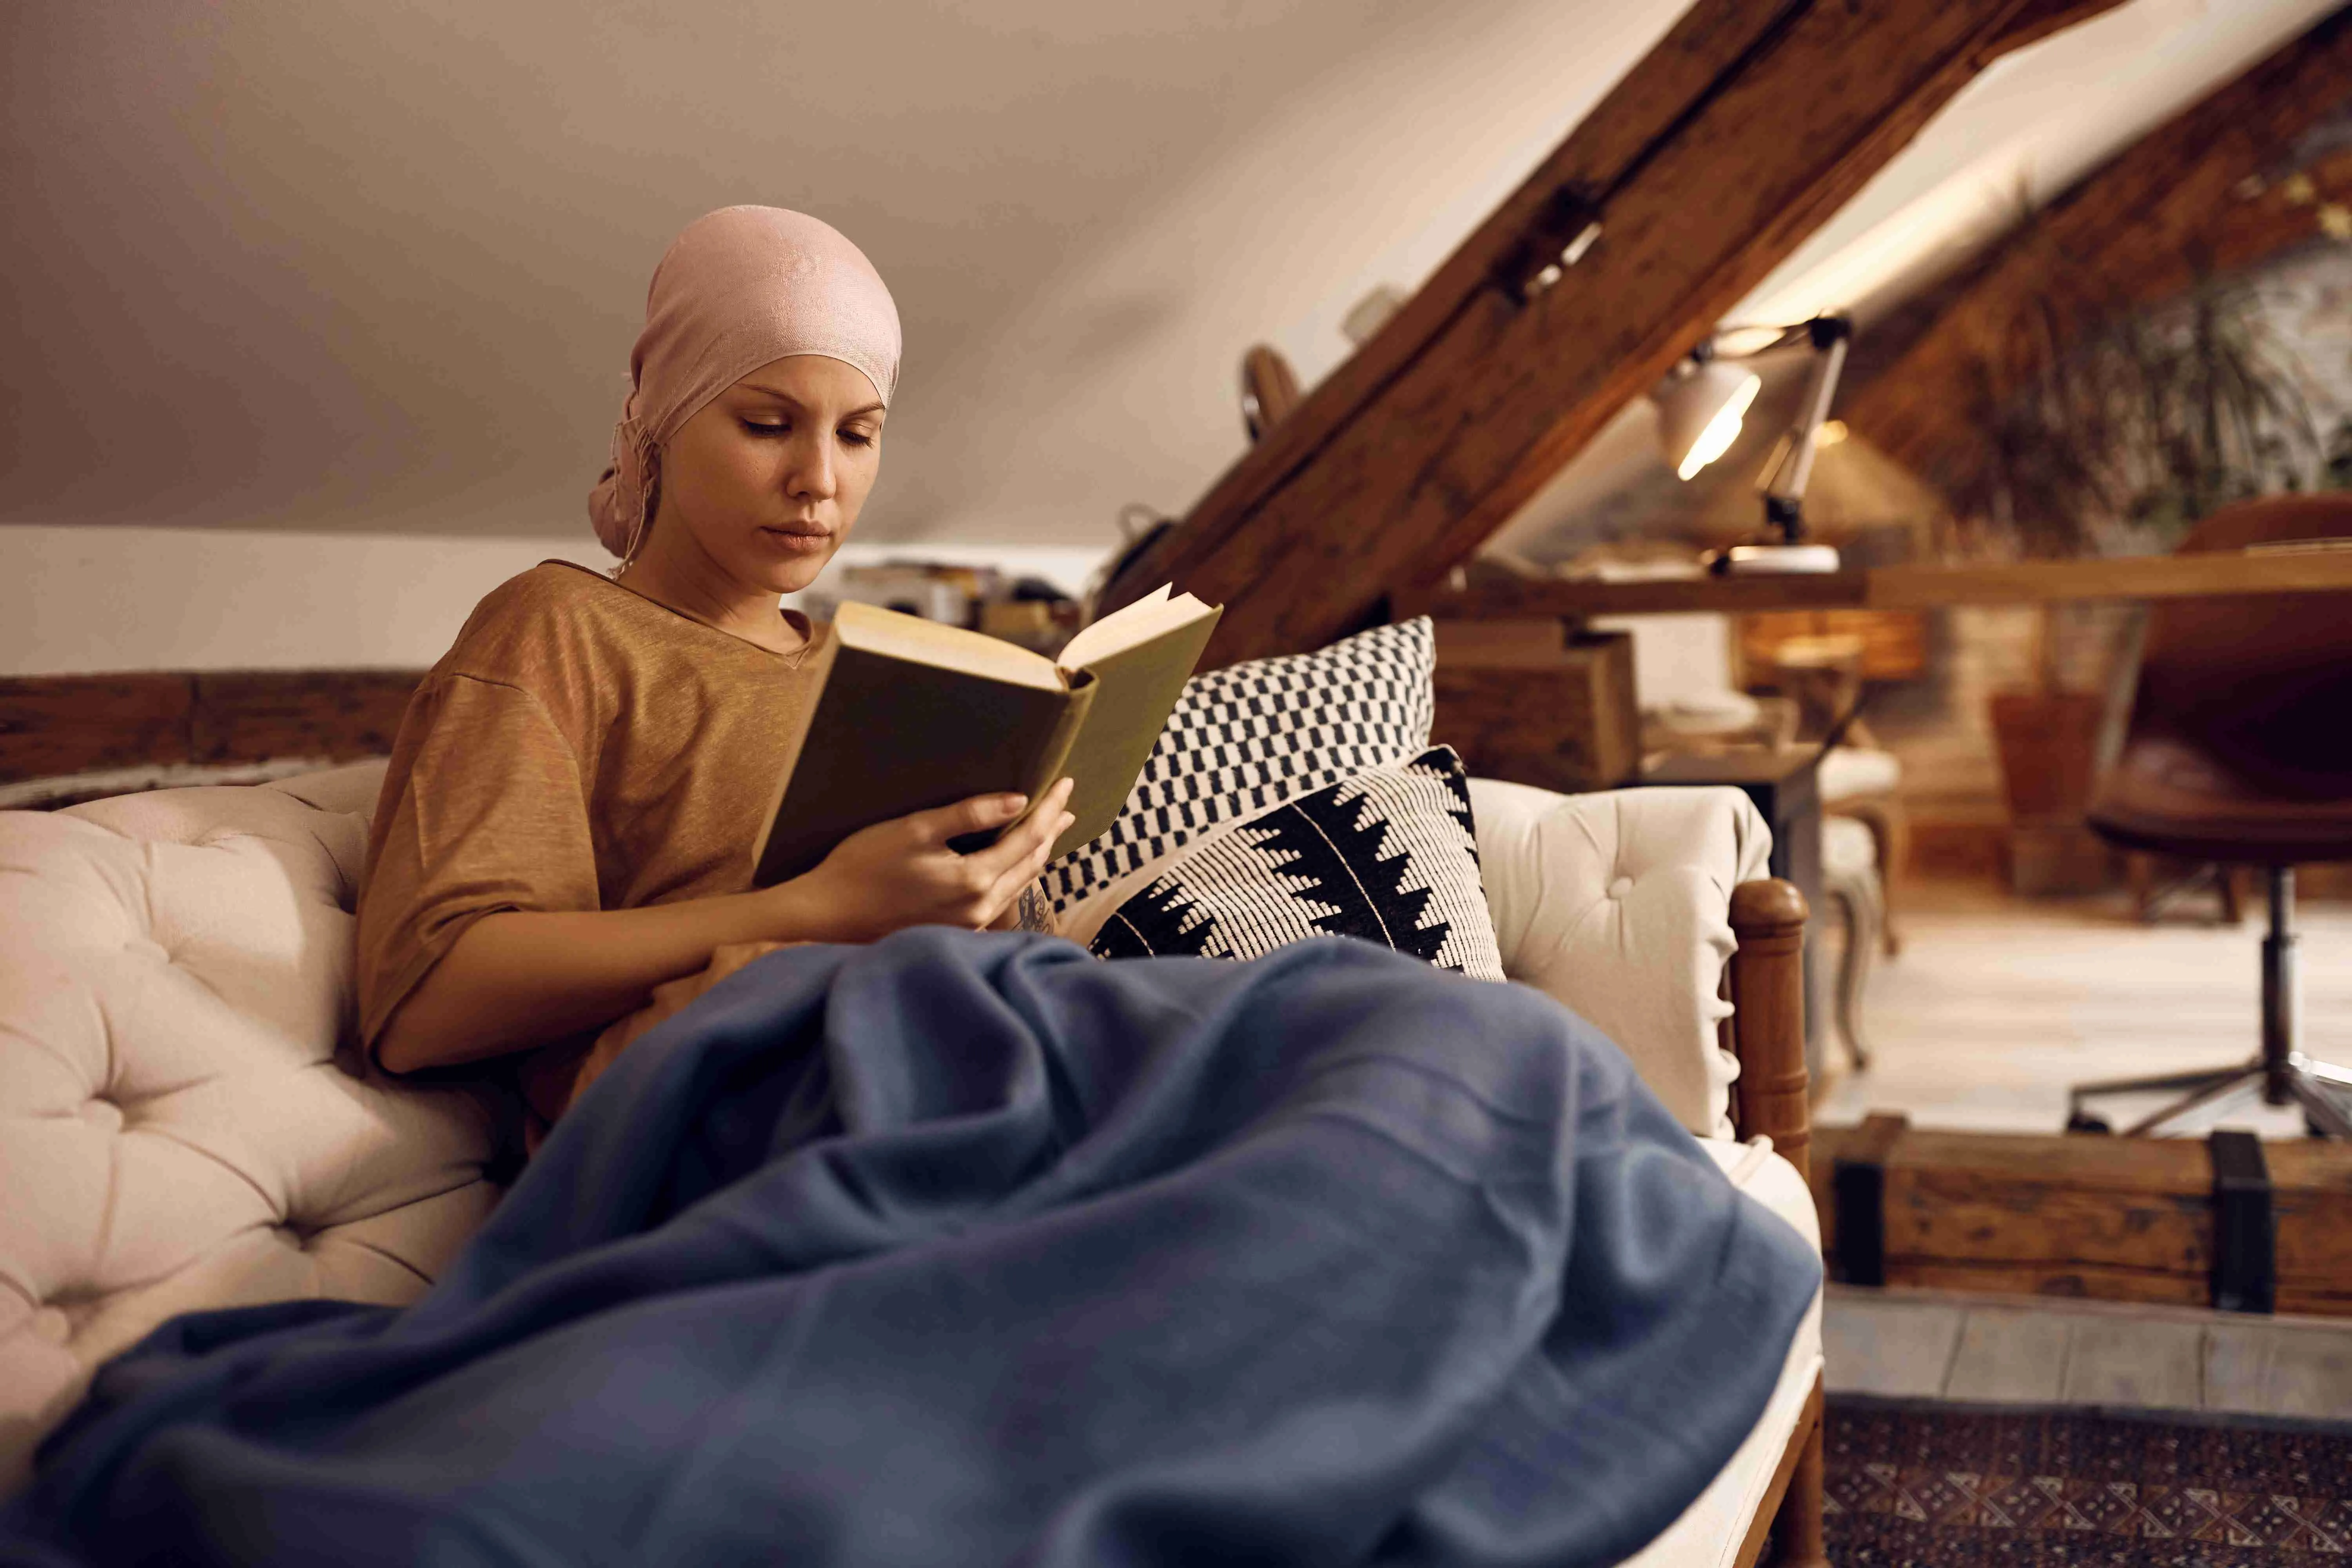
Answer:
[[1437, 724], [1477, 778], [1609, 790], [1642, 766], [1628, 632], [1437, 623]]

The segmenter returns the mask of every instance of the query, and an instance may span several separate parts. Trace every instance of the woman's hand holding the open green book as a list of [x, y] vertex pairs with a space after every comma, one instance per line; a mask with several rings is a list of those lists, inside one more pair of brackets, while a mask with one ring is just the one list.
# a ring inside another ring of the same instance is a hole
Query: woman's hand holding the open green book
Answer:
[[1018, 795], [974, 795], [955, 806], [875, 823], [774, 893], [797, 905], [790, 926], [804, 940], [870, 943], [903, 926], [981, 931], [1037, 879], [1054, 839], [1077, 820], [1063, 811], [1068, 799], [1070, 780], [1063, 778], [1025, 823], [969, 856], [948, 849], [948, 839], [1002, 827], [1028, 802]]

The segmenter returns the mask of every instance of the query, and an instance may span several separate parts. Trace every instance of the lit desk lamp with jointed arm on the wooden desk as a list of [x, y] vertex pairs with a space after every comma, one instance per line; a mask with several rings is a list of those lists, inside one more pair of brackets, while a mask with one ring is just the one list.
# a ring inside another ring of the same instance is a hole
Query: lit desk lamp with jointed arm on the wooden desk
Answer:
[[[1757, 334], [1762, 341], [1757, 341]], [[1816, 315], [1795, 327], [1726, 327], [1722, 336], [1740, 341], [1738, 353], [1708, 339], [1677, 364], [1651, 393], [1658, 404], [1658, 440], [1675, 475], [1689, 480], [1731, 449], [1748, 404], [1764, 386], [1752, 369], [1724, 364], [1726, 357], [1752, 357], [1797, 343], [1813, 346], [1813, 371], [1806, 378], [1797, 416], [1780, 435], [1764, 468], [1764, 536], [1731, 545], [1715, 557], [1712, 569], [1726, 574], [1837, 571], [1837, 550], [1804, 543], [1804, 487], [1813, 477], [1813, 447], [1820, 423], [1830, 416], [1837, 376], [1846, 369], [1846, 343], [1853, 322], [1844, 315]]]

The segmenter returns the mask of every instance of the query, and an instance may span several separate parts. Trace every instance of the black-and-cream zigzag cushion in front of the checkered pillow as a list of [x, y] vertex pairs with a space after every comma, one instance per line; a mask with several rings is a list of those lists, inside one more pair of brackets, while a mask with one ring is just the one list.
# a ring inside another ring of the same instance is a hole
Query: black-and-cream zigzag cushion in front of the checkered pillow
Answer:
[[1367, 769], [1200, 842], [1112, 910], [1091, 952], [1251, 959], [1310, 936], [1503, 978], [1454, 748]]

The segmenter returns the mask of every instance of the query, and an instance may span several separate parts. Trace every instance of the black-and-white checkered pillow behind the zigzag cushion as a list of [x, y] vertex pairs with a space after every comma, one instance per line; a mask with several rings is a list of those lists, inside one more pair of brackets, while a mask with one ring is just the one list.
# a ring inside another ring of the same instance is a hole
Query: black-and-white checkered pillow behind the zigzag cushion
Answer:
[[1209, 827], [1425, 750], [1435, 658], [1437, 637], [1418, 618], [1195, 675], [1110, 830], [1044, 870], [1054, 912]]

